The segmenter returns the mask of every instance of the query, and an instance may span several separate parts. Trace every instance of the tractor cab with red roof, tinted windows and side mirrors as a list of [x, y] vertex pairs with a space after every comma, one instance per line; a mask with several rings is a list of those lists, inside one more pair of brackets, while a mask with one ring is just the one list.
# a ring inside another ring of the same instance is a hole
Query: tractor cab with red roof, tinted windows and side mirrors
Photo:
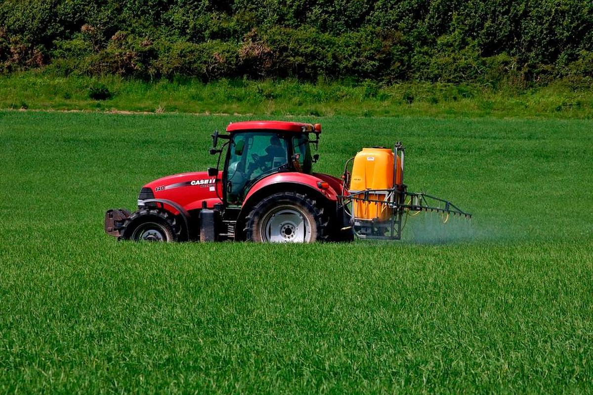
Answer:
[[[317, 144], [321, 125], [278, 121], [247, 121], [231, 123], [229, 134], [212, 135], [211, 153], [226, 149], [222, 169], [224, 201], [241, 205], [247, 191], [260, 179], [278, 172], [311, 174], [318, 155], [311, 155], [311, 143]], [[310, 139], [310, 134], [315, 134]], [[218, 139], [227, 139], [216, 149]], [[220, 163], [221, 158], [219, 158]]]

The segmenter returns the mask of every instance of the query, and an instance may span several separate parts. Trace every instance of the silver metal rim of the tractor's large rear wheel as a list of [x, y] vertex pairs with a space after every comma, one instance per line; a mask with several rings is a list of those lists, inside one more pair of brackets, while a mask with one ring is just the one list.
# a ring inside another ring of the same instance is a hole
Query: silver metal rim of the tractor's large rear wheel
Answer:
[[294, 207], [276, 207], [260, 222], [264, 242], [308, 243], [311, 241], [311, 223], [307, 216]]

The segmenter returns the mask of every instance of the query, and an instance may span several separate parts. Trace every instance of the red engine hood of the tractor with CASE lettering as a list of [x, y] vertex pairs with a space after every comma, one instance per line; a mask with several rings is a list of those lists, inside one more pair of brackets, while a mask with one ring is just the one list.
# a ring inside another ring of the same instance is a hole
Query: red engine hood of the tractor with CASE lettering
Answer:
[[222, 172], [209, 176], [208, 172], [190, 172], [169, 175], [144, 185], [150, 188], [157, 199], [171, 200], [186, 210], [202, 208], [206, 201], [208, 207], [221, 203]]

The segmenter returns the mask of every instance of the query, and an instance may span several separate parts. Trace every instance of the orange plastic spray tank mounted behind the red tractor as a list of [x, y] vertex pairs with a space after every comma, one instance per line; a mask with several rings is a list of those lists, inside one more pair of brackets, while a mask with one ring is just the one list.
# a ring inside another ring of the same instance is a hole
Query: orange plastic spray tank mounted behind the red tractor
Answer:
[[[390, 190], [393, 188], [393, 162], [397, 160], [396, 182], [401, 184], [400, 158], [395, 158], [388, 148], [363, 148], [357, 153], [352, 165], [350, 178], [350, 194], [365, 190]], [[363, 197], [359, 194], [358, 197]], [[370, 200], [385, 201], [389, 193], [376, 192], [369, 194]], [[380, 202], [353, 201], [353, 214], [356, 219], [385, 221], [391, 218], [391, 209]]]

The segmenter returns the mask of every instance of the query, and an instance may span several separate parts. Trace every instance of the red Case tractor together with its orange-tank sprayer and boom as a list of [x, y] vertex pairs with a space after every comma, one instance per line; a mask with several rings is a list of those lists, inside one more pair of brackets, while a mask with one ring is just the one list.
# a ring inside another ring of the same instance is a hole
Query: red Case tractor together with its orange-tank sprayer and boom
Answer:
[[363, 149], [336, 178], [313, 171], [320, 124], [243, 121], [226, 131], [212, 134], [216, 168], [144, 185], [138, 210], [107, 210], [107, 234], [156, 242], [344, 242], [400, 239], [408, 213], [471, 216], [446, 200], [407, 192], [401, 143]]

